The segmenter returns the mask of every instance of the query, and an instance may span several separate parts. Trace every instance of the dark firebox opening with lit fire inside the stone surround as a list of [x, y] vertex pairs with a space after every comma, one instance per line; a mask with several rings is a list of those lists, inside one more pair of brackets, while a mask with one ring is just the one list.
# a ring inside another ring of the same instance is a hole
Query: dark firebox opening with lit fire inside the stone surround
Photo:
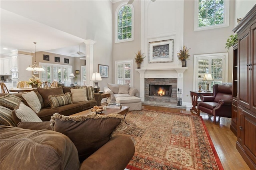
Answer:
[[149, 85], [149, 95], [159, 97], [171, 97], [172, 85]]

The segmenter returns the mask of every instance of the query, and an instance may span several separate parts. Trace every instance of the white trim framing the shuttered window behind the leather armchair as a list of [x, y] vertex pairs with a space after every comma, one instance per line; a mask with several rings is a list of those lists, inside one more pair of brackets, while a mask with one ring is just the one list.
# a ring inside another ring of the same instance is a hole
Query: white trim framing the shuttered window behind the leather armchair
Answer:
[[223, 81], [228, 82], [228, 53], [210, 53], [210, 54], [198, 54], [194, 55], [194, 69], [193, 69], [193, 91], [196, 91], [196, 82], [197, 82], [197, 74], [196, 74], [196, 60], [200, 57], [219, 57], [224, 56], [224, 67], [223, 67]]

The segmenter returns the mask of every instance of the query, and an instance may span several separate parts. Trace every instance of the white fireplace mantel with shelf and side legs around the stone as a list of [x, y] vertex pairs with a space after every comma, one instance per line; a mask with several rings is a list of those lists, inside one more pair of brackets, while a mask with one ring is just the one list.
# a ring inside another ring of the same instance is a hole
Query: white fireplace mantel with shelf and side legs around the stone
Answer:
[[183, 89], [183, 73], [188, 67], [136, 69], [140, 73], [140, 99], [145, 98], [145, 78], [177, 78], [177, 88]]

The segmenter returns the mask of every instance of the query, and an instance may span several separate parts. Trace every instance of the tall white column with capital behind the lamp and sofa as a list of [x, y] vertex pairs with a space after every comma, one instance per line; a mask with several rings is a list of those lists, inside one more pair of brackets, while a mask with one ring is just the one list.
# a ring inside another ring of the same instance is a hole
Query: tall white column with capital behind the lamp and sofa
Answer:
[[86, 54], [86, 86], [94, 86], [91, 80], [93, 73], [93, 45], [96, 41], [86, 40], [85, 42], [85, 54]]

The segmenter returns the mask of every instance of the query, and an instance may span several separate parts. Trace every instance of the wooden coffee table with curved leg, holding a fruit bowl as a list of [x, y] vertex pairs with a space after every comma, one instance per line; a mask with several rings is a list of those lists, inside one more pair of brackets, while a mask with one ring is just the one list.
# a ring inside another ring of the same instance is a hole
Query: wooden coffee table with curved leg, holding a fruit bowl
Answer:
[[[102, 111], [102, 113], [99, 113], [100, 115], [108, 115], [110, 113], [115, 113], [115, 114], [120, 114], [120, 115], [124, 115], [124, 122], [126, 123], [125, 121], [125, 117], [126, 117], [126, 114], [128, 113], [128, 110], [129, 107], [128, 106], [122, 106], [121, 109], [106, 109], [104, 111]], [[75, 113], [73, 115], [70, 115], [70, 116], [80, 116], [80, 115], [90, 115], [92, 114], [92, 112], [89, 110], [86, 110], [86, 111], [82, 111], [82, 112], [79, 112], [79, 113]], [[128, 124], [128, 123], [126, 123]], [[129, 124], [128, 124], [129, 125]]]

